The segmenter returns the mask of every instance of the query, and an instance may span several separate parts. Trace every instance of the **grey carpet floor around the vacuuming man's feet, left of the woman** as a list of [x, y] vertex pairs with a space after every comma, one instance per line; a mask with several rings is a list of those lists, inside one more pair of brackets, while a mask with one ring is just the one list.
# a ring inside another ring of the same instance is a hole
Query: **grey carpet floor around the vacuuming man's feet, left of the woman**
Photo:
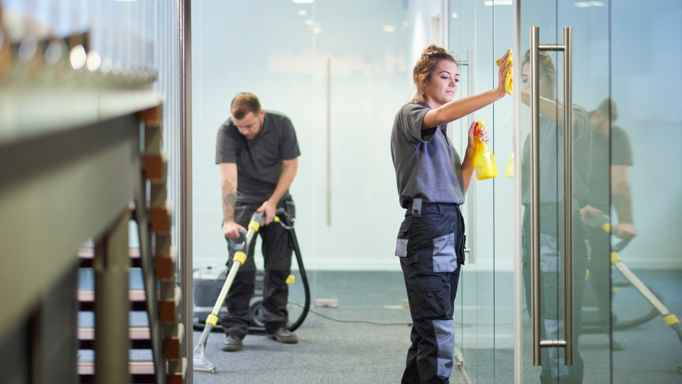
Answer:
[[[340, 306], [316, 311], [337, 319], [410, 321], [407, 309]], [[206, 353], [217, 372], [195, 373], [195, 383], [400, 383], [409, 326], [341, 324], [310, 314], [296, 334], [300, 342], [295, 345], [249, 335], [236, 353], [221, 351], [224, 335], [212, 334]], [[195, 332], [195, 340], [199, 337]], [[465, 383], [458, 374], [451, 383]]]

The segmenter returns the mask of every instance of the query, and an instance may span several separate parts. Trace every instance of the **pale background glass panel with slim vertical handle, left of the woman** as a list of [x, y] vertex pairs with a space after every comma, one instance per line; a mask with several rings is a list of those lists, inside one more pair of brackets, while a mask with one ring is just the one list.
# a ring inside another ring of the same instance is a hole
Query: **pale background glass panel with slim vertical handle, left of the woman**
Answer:
[[411, 98], [407, 10], [386, 0], [314, 9], [313, 269], [399, 270], [404, 210], [389, 143]]

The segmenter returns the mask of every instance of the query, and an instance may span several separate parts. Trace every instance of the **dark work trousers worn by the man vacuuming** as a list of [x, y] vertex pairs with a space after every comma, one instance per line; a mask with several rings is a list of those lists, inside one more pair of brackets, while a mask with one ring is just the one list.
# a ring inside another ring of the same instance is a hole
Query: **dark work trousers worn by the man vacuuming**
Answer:
[[[251, 215], [259, 206], [239, 203], [234, 206], [234, 221], [247, 228]], [[296, 206], [291, 198], [280, 201], [277, 208], [285, 208], [291, 218], [296, 216]], [[291, 252], [293, 247], [289, 238], [289, 232], [278, 223], [263, 225], [258, 231], [262, 240], [262, 252], [265, 261], [265, 277], [263, 290], [263, 313], [265, 315], [265, 329], [267, 333], [274, 333], [277, 329], [286, 326], [288, 311], [288, 286], [286, 278], [291, 273]], [[229, 247], [228, 247], [229, 249]], [[249, 332], [249, 326], [253, 321], [251, 316], [251, 297], [256, 287], [256, 263], [254, 262], [254, 250], [256, 239], [251, 242], [247, 252], [247, 261], [239, 267], [239, 272], [234, 278], [232, 287], [227, 293], [225, 303], [227, 314], [222, 316], [222, 324], [225, 334], [244, 338]], [[229, 249], [228, 268], [232, 267], [234, 250]]]

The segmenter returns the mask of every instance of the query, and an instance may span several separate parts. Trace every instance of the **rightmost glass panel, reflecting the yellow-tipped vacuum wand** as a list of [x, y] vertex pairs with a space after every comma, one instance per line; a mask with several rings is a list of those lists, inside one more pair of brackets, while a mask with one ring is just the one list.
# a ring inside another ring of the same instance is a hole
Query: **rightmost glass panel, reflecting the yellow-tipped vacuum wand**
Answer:
[[682, 4], [612, 1], [610, 16], [612, 102], [592, 121], [595, 142], [610, 130], [612, 383], [680, 383]]

